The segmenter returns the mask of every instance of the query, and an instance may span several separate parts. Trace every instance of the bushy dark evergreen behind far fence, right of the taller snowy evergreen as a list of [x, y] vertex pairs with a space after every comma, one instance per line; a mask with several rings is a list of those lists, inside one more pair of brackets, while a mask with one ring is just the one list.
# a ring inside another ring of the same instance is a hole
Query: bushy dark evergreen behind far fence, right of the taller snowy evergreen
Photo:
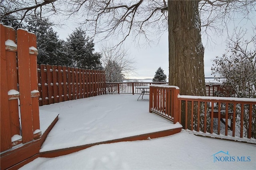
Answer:
[[86, 33], [81, 28], [76, 28], [67, 38], [67, 45], [70, 48], [72, 66], [85, 69], [100, 69], [101, 54], [94, 52], [94, 43], [86, 38]]

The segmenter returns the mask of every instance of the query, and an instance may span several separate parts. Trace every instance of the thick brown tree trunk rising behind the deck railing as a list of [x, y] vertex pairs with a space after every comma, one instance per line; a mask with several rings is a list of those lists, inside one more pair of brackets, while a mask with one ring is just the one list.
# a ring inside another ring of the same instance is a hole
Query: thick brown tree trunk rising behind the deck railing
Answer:
[[168, 0], [169, 85], [180, 94], [205, 96], [204, 47], [198, 1]]

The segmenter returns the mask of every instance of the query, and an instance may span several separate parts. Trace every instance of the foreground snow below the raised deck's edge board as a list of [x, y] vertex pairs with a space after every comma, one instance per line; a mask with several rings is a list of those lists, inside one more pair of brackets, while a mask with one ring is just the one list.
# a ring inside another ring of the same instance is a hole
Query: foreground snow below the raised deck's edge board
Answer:
[[[228, 155], [223, 152], [228, 152]], [[226, 161], [215, 159], [214, 162], [214, 156]], [[255, 170], [256, 146], [199, 137], [182, 131], [152, 140], [100, 144], [56, 158], [37, 158], [20, 169]]]

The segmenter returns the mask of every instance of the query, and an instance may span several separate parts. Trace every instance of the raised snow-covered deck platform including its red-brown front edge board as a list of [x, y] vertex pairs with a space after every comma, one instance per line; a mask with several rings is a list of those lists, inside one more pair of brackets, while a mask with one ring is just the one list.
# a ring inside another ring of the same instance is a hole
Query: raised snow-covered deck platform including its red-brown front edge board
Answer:
[[[148, 112], [148, 97], [137, 101], [137, 95], [107, 94], [40, 106], [40, 117], [59, 114], [58, 122], [42, 144], [40, 155], [55, 157], [96, 144], [142, 140], [180, 132], [180, 124], [172, 124]], [[46, 120], [40, 124], [42, 127], [49, 122]]]

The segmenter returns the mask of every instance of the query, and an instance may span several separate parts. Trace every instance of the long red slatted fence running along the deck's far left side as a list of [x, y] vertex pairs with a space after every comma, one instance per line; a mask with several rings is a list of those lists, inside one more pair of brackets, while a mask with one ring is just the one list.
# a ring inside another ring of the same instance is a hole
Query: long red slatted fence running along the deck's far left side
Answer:
[[106, 94], [105, 72], [66, 66], [37, 65], [39, 105]]

